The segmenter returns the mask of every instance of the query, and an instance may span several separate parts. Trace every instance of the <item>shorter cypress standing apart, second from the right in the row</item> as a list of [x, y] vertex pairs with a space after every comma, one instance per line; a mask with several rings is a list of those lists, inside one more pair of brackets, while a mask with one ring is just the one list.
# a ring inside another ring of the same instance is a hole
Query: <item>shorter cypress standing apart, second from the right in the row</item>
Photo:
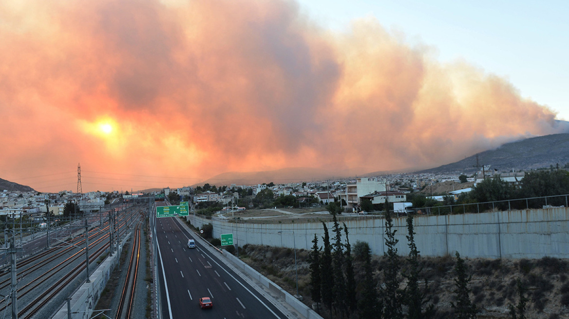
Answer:
[[455, 274], [455, 290], [453, 292], [456, 303], [451, 304], [451, 307], [455, 309], [455, 318], [476, 319], [477, 309], [470, 300], [470, 288], [468, 287], [472, 277], [467, 276], [464, 260], [460, 258], [458, 251], [456, 252]]

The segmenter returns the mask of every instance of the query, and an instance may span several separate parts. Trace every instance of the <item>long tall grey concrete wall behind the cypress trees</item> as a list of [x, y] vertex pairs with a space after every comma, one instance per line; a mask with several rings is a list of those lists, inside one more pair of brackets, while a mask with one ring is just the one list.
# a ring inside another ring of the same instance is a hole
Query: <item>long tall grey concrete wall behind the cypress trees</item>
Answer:
[[[192, 225], [213, 225], [213, 236], [233, 233], [234, 243], [269, 245], [275, 247], [296, 246], [310, 250], [314, 235], [322, 245], [324, 230], [321, 223], [255, 224], [230, 223], [225, 219], [190, 215]], [[372, 253], [385, 252], [385, 221], [369, 216], [342, 221], [348, 226], [349, 241], [368, 242]], [[393, 221], [398, 253], [409, 254], [405, 217]], [[332, 223], [327, 223], [333, 237]], [[474, 213], [464, 215], [419, 216], [414, 219], [415, 242], [423, 256], [460, 255], [469, 258], [569, 258], [569, 208], [524, 209]], [[279, 234], [278, 232], [282, 232]], [[294, 233], [293, 233], [294, 232]], [[344, 238], [345, 239], [345, 238]]]

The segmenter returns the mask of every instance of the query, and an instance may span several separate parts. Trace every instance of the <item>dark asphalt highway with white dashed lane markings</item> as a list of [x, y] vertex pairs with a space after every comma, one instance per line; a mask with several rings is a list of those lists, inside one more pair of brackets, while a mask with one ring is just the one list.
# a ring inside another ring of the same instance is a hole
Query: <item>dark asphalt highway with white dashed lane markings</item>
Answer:
[[[197, 236], [176, 218], [155, 223], [162, 318], [287, 318], [221, 262], [218, 251], [205, 249], [200, 240], [189, 249], [188, 239]], [[200, 297], [211, 297], [213, 308], [200, 309]]]

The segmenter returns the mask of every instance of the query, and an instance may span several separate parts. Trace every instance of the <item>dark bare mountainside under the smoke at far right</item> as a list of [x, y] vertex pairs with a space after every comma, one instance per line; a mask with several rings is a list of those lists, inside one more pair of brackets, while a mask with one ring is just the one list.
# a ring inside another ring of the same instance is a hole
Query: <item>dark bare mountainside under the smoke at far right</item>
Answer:
[[[564, 166], [569, 163], [569, 134], [526, 138], [477, 155], [479, 165], [490, 165], [492, 169], [498, 171], [530, 170], [557, 164]], [[455, 163], [417, 173], [464, 173], [469, 175], [478, 170], [475, 154]]]

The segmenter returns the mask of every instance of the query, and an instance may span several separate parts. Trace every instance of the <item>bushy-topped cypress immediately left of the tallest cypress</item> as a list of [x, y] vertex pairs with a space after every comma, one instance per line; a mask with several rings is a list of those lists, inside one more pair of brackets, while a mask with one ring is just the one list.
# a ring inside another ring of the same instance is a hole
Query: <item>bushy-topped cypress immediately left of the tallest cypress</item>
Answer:
[[358, 313], [360, 314], [360, 319], [381, 319], [383, 305], [377, 293], [377, 281], [373, 278], [372, 253], [369, 245], [362, 251], [362, 259], [364, 259], [365, 275], [361, 299], [358, 301]]

